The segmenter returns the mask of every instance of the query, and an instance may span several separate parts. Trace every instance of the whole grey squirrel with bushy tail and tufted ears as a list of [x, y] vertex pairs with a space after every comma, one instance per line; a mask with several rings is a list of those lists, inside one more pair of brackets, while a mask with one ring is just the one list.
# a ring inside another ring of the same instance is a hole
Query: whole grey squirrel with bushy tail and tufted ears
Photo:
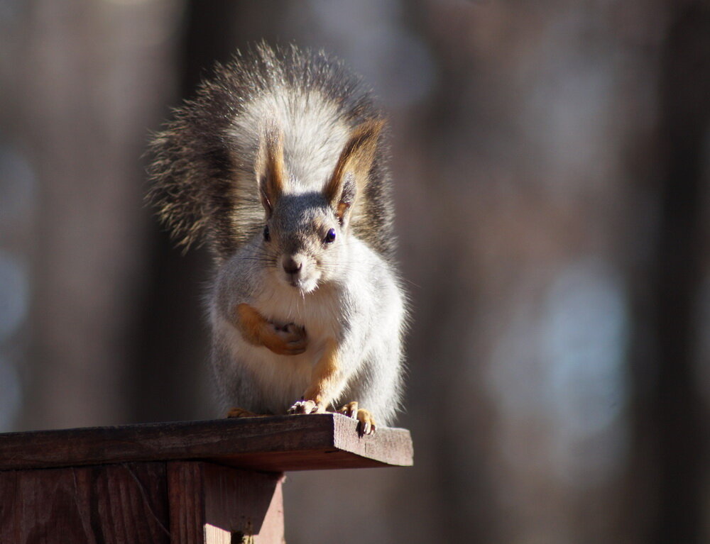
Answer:
[[155, 134], [148, 201], [214, 256], [214, 382], [229, 416], [393, 421], [407, 304], [386, 120], [324, 52], [237, 52]]

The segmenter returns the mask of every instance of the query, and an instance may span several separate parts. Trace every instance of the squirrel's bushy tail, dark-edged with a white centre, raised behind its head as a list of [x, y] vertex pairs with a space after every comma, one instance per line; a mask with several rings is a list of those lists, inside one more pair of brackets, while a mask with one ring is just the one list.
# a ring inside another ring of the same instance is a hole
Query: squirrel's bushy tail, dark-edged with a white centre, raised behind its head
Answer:
[[[323, 52], [261, 44], [217, 65], [151, 142], [148, 199], [180, 245], [207, 243], [217, 261], [261, 228], [254, 161], [261, 123], [283, 129], [293, 191], [320, 190], [349, 131], [382, 118], [359, 77]], [[395, 248], [383, 132], [353, 229], [386, 260]]]

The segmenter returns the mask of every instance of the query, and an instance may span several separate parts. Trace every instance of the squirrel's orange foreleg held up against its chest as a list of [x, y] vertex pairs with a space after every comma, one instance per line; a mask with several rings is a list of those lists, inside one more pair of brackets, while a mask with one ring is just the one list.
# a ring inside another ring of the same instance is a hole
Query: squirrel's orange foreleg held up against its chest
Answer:
[[294, 323], [277, 326], [249, 304], [236, 306], [236, 317], [236, 327], [250, 344], [263, 345], [278, 355], [298, 355], [307, 348], [305, 329]]

